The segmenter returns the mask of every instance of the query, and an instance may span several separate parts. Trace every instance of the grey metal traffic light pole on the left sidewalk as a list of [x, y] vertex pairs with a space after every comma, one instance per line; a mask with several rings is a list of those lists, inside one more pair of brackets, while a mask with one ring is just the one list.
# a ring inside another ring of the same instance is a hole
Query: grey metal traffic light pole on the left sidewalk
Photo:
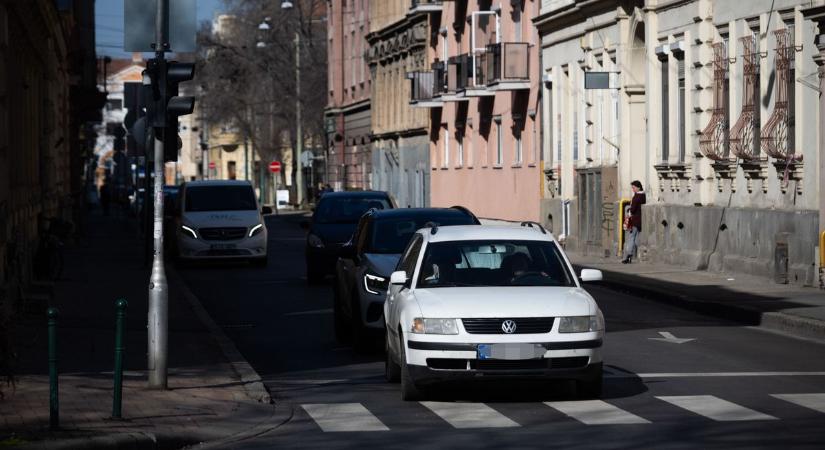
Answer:
[[[167, 0], [157, 0], [155, 17], [155, 57], [163, 59], [166, 48], [165, 27]], [[157, 83], [157, 80], [152, 80]], [[165, 112], [164, 112], [165, 113]], [[149, 279], [149, 387], [166, 389], [166, 357], [168, 349], [169, 293], [166, 270], [163, 265], [163, 136], [155, 135], [155, 185], [154, 185], [154, 255], [152, 275]]]

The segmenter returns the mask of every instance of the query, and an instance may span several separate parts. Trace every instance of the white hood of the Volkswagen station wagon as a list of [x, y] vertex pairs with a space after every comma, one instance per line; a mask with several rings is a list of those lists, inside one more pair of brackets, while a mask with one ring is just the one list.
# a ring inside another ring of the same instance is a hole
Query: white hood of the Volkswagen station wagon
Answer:
[[416, 289], [424, 317], [493, 318], [595, 315], [596, 302], [575, 287], [457, 287]]

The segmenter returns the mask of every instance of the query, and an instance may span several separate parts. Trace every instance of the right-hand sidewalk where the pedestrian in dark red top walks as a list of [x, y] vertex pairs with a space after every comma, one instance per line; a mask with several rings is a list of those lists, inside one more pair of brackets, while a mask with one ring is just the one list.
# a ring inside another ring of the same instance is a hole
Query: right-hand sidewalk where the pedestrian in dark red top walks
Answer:
[[576, 269], [599, 269], [602, 284], [697, 312], [811, 339], [825, 339], [825, 291], [762, 277], [568, 252]]

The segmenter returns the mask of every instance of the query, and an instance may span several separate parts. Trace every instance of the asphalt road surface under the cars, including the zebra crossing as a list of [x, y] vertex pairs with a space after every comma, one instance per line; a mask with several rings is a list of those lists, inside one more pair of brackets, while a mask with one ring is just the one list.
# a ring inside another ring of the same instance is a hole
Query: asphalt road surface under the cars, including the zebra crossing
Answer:
[[265, 269], [180, 271], [291, 417], [238, 448], [825, 448], [825, 343], [598, 286], [588, 291], [607, 325], [602, 400], [517, 383], [403, 402], [379, 350], [336, 342], [331, 287], [307, 286], [298, 222], [267, 219]]

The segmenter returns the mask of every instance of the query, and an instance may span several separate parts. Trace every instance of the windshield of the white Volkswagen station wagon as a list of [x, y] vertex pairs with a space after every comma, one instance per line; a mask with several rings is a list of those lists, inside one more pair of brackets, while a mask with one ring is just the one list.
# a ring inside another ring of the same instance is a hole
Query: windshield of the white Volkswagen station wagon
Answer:
[[418, 286], [575, 286], [575, 281], [553, 242], [452, 241], [427, 246]]

